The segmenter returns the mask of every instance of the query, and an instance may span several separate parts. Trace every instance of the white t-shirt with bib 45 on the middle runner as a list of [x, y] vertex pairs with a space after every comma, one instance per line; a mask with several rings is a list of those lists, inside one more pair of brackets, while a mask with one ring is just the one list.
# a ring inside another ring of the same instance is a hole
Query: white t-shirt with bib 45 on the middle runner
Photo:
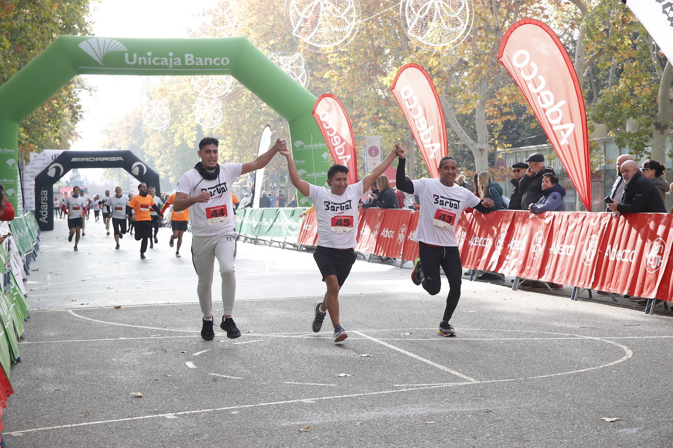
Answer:
[[308, 197], [316, 206], [318, 246], [334, 249], [357, 246], [357, 201], [362, 193], [362, 181], [346, 187], [341, 196], [325, 187], [310, 185]]

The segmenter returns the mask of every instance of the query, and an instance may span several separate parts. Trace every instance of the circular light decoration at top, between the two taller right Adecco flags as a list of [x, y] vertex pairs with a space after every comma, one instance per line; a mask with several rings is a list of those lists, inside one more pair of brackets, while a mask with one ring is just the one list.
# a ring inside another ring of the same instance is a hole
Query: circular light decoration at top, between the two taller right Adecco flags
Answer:
[[470, 34], [471, 0], [403, 0], [400, 19], [406, 35], [431, 51], [451, 50]]

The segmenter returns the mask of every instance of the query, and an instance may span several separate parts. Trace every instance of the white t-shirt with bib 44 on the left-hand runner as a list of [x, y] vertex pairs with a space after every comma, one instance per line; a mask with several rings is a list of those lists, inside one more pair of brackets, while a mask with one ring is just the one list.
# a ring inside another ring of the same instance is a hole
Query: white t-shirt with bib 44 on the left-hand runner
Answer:
[[234, 204], [231, 188], [242, 170], [242, 163], [220, 164], [219, 176], [212, 181], [201, 177], [195, 168], [182, 175], [176, 193], [184, 193], [187, 197], [191, 197], [198, 195], [201, 191], [209, 191], [211, 195], [209, 201], [197, 202], [189, 208], [192, 235], [213, 236], [223, 232], [234, 232]]

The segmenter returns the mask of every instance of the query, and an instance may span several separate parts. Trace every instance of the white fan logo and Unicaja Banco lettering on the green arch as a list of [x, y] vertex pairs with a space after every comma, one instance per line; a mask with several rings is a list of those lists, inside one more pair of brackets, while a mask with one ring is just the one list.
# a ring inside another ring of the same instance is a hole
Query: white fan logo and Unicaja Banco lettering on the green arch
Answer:
[[[137, 53], [130, 54], [128, 48], [121, 42], [110, 38], [91, 38], [79, 44], [79, 48], [86, 54], [94, 58], [101, 66], [104, 66], [103, 60], [106, 54], [113, 52], [126, 52], [124, 62], [129, 66], [149, 66], [157, 69], [173, 69], [176, 66], [226, 66], [229, 65], [229, 58], [226, 57], [196, 57], [190, 53], [176, 55], [172, 51], [163, 56], [153, 56], [151, 51], [147, 55], [138, 56]], [[131, 67], [135, 68], [135, 67]]]

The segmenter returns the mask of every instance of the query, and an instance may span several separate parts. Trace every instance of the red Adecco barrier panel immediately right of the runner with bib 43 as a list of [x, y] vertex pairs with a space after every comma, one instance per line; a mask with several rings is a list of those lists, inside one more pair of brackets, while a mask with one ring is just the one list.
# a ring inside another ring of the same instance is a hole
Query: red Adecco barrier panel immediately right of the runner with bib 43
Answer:
[[[466, 220], [461, 218], [456, 228], [462, 265], [468, 269], [498, 271], [514, 212], [503, 210], [489, 214], [463, 214], [463, 216]], [[470, 228], [465, 229], [461, 224], [466, 224]], [[461, 239], [463, 234], [465, 237]]]

